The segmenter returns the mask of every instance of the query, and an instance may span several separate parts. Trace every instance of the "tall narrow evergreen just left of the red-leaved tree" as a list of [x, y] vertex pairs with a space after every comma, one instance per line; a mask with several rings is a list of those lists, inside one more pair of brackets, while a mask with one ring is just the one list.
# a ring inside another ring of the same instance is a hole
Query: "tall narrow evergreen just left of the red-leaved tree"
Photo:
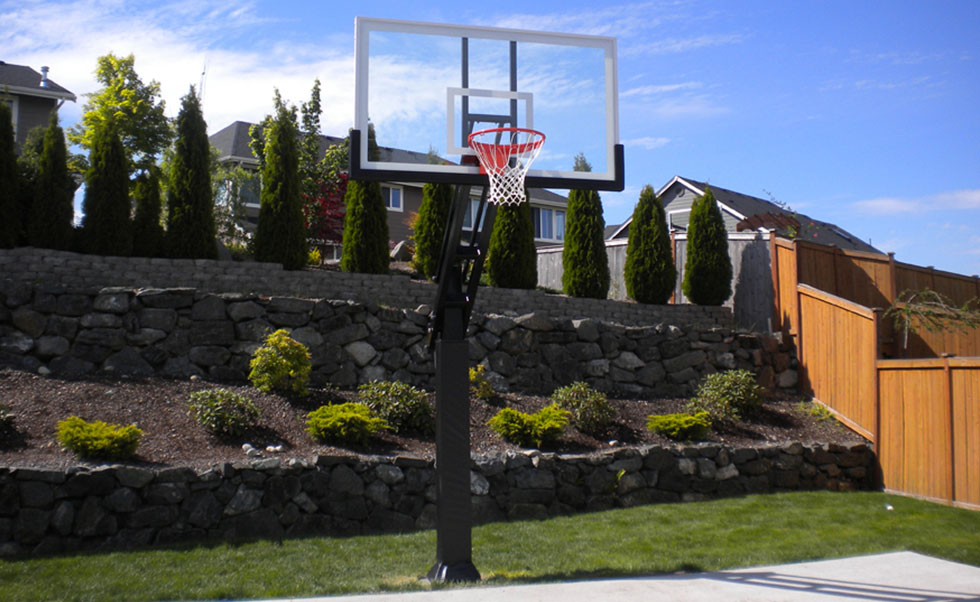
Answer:
[[259, 196], [255, 258], [281, 263], [287, 270], [306, 265], [306, 224], [300, 198], [299, 127], [296, 107], [287, 107], [276, 91], [275, 116], [263, 130], [265, 163]]

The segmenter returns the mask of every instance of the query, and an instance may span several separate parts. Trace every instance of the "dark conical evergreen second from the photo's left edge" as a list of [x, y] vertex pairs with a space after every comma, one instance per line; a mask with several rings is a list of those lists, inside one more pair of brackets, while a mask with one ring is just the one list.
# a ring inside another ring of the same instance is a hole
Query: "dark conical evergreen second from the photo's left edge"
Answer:
[[25, 216], [29, 243], [47, 249], [69, 248], [74, 233], [75, 185], [68, 173], [65, 133], [58, 125], [58, 114], [54, 111], [44, 131], [33, 193], [34, 202]]

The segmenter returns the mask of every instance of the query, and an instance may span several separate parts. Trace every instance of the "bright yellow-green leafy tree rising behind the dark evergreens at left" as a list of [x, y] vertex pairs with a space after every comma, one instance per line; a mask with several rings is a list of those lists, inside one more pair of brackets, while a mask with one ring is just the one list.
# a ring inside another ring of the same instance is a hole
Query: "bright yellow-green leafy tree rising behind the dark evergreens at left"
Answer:
[[82, 118], [68, 132], [72, 143], [91, 151], [96, 131], [111, 123], [125, 149], [129, 174], [154, 165], [172, 136], [160, 84], [155, 80], [144, 84], [135, 64], [132, 54], [118, 57], [110, 52], [99, 57], [95, 78], [102, 89], [87, 95]]

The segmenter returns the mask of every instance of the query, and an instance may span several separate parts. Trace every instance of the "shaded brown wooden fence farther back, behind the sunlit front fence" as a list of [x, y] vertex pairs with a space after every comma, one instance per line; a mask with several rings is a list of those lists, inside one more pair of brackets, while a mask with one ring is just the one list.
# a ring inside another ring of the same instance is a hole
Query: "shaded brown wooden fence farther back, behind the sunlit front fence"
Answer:
[[[892, 254], [843, 251], [801, 240], [770, 238], [774, 292], [774, 330], [799, 332], [797, 284], [808, 284], [865, 307], [888, 308], [905, 290], [930, 288], [962, 304], [980, 298], [980, 278], [895, 261]], [[980, 329], [971, 333], [920, 331], [901, 348], [891, 320], [879, 320], [880, 352], [889, 357], [939, 357], [944, 353], [980, 355]]]

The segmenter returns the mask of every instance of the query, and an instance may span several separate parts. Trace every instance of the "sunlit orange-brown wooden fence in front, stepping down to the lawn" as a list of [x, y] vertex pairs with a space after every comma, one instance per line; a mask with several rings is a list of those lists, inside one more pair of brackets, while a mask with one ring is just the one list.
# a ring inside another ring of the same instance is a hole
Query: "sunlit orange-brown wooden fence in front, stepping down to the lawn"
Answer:
[[883, 360], [879, 311], [806, 284], [801, 387], [875, 444], [886, 490], [980, 509], [980, 357]]

